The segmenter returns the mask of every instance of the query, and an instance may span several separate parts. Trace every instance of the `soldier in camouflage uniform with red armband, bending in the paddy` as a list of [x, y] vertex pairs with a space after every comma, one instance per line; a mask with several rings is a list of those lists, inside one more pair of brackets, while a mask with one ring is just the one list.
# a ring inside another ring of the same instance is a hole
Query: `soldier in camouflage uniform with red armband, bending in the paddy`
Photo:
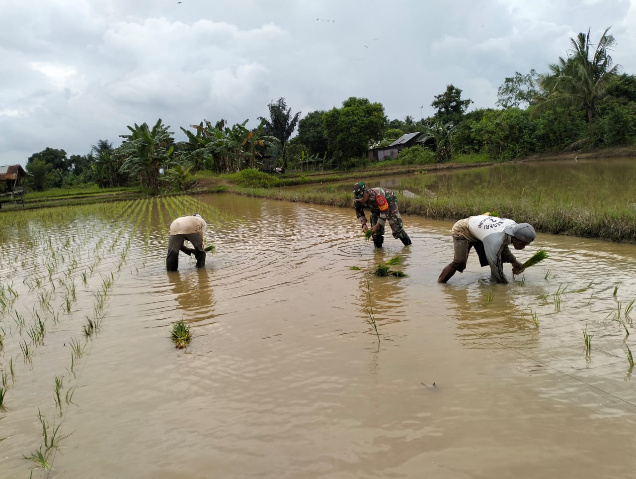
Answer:
[[402, 218], [397, 211], [397, 198], [395, 194], [385, 188], [367, 189], [363, 182], [354, 185], [354, 204], [356, 206], [356, 218], [362, 225], [362, 231], [368, 229], [364, 208], [371, 210], [371, 238], [376, 248], [382, 248], [384, 243], [384, 224], [389, 220], [393, 231], [393, 238], [400, 239], [404, 246], [411, 244], [411, 238], [404, 231]]

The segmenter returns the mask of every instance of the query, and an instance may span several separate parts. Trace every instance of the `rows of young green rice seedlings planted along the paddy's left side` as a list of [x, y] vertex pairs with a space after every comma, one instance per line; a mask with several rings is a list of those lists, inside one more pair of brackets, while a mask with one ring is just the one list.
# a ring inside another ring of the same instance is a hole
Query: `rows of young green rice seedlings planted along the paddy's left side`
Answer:
[[[63, 425], [78, 406], [79, 371], [107, 327], [112, 288], [122, 275], [146, 267], [156, 235], [151, 224], [159, 218], [167, 245], [172, 219], [193, 212], [209, 223], [223, 218], [193, 197], [0, 215], [0, 442], [10, 450], [22, 445], [27, 473], [50, 470], [72, 434]], [[127, 266], [131, 247], [144, 250], [134, 267]], [[16, 427], [21, 415], [30, 418], [28, 431]]]

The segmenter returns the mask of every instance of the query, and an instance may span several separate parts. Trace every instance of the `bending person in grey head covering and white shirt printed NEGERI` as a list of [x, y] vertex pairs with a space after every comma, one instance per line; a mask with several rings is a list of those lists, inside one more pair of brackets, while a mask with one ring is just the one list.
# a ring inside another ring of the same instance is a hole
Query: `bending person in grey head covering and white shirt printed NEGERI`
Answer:
[[459, 220], [453, 225], [451, 234], [455, 254], [453, 261], [439, 275], [439, 283], [446, 283], [455, 272], [464, 271], [471, 247], [475, 248], [481, 266], [490, 266], [497, 283], [508, 283], [508, 278], [504, 275], [504, 262], [512, 264], [513, 273], [522, 266], [510, 252], [508, 245], [512, 244], [515, 250], [523, 250], [537, 236], [530, 224], [517, 224], [514, 220], [490, 215]]

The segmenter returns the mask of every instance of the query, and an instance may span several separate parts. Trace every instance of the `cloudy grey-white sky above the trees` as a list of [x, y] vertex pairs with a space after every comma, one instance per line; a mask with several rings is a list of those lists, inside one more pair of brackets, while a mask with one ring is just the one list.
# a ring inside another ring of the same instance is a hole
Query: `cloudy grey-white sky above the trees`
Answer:
[[0, 165], [158, 118], [177, 140], [204, 118], [254, 127], [281, 96], [301, 116], [357, 96], [418, 119], [452, 83], [490, 107], [506, 76], [609, 25], [636, 74], [636, 0], [0, 0], [0, 25]]

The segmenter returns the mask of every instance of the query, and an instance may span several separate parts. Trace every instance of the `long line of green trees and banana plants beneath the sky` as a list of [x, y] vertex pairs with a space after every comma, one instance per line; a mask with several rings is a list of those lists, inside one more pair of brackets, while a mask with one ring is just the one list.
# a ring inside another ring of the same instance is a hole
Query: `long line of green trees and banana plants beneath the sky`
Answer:
[[[46, 148], [27, 160], [33, 189], [97, 184], [141, 185], [186, 190], [199, 170], [233, 173], [258, 168], [270, 173], [293, 169], [348, 169], [363, 166], [370, 148], [389, 145], [406, 133], [420, 132], [420, 146], [403, 150], [398, 160], [445, 162], [456, 155], [509, 160], [539, 152], [636, 143], [636, 77], [621, 73], [611, 51], [616, 40], [605, 29], [597, 43], [590, 31], [570, 38], [565, 57], [548, 71], [515, 72], [497, 91], [497, 108], [467, 111], [473, 103], [447, 85], [434, 96], [434, 114], [415, 120], [389, 120], [382, 103], [350, 97], [340, 108], [317, 110], [301, 118], [284, 97], [268, 104], [258, 126], [248, 120], [203, 120], [175, 141], [162, 120], [128, 126], [121, 145], [100, 139], [86, 155], [67, 157]], [[294, 131], [296, 136], [292, 138]]]

